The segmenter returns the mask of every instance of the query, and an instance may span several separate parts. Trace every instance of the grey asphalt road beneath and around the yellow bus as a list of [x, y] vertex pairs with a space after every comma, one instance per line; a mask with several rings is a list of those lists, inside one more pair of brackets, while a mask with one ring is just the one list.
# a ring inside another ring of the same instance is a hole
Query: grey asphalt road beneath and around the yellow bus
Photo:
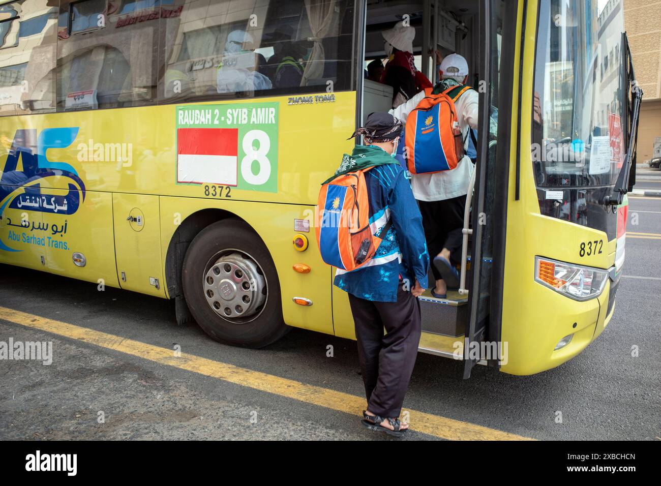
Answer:
[[[630, 203], [629, 232], [661, 234], [661, 198]], [[627, 238], [626, 278], [611, 323], [555, 370], [517, 377], [477, 366], [462, 380], [461, 362], [418, 354], [405, 409], [438, 418], [438, 426], [408, 438], [447, 438], [452, 430], [479, 438], [496, 430], [553, 440], [661, 440], [660, 248], [661, 239]], [[0, 361], [0, 439], [385, 437], [360, 425], [359, 407], [346, 413], [325, 406], [317, 392], [292, 399], [264, 391], [270, 380], [288, 379], [329, 391], [329, 400], [338, 393], [362, 397], [353, 341], [293, 329], [262, 350], [233, 348], [196, 325], [178, 327], [172, 302], [112, 288], [98, 292], [96, 284], [6, 265], [0, 265], [0, 307], [116, 336], [61, 337], [0, 312], [0, 341], [52, 341], [54, 352], [48, 366]], [[178, 344], [207, 363], [262, 372], [263, 383], [241, 385], [116, 350], [130, 340], [167, 349]], [[639, 356], [631, 356], [632, 346]], [[465, 428], [453, 429], [457, 423]]]

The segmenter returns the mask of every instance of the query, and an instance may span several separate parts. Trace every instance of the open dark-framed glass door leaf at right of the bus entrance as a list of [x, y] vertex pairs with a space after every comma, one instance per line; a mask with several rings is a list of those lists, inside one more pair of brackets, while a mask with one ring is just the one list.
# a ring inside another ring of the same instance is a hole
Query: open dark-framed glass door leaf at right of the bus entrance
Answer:
[[[518, 126], [512, 127], [510, 123], [516, 124], [520, 119], [508, 114], [512, 113], [513, 91], [522, 93], [513, 77], [516, 20], [521, 11], [517, 2], [480, 2], [479, 45], [482, 52], [479, 70], [486, 83], [485, 89], [479, 89], [480, 122], [471, 217], [471, 271], [467, 278], [470, 293], [463, 349], [464, 378], [470, 378], [475, 364], [498, 366], [501, 360], [506, 360], [507, 347], [500, 343], [502, 282], [510, 132], [516, 136], [518, 130]], [[498, 116], [499, 113], [502, 116]]]

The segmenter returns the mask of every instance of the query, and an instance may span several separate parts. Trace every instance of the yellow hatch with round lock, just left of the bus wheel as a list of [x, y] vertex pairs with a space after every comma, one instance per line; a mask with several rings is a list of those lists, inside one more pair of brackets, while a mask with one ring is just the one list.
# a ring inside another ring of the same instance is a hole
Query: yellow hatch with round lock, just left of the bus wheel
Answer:
[[165, 296], [159, 196], [114, 193], [112, 213], [120, 287]]

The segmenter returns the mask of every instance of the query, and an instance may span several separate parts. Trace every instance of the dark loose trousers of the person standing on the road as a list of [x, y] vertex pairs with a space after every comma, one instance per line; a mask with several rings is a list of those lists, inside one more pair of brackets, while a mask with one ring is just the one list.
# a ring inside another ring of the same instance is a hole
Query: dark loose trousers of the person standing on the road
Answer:
[[[368, 410], [399, 417], [420, 344], [420, 302], [399, 283], [397, 302], [349, 294]], [[383, 328], [385, 327], [385, 335]]]

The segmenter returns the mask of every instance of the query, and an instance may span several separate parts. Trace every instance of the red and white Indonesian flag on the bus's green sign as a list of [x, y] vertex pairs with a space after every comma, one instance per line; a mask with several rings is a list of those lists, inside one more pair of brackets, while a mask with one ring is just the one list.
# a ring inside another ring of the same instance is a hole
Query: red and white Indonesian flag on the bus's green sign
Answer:
[[236, 186], [238, 128], [178, 128], [176, 181]]

